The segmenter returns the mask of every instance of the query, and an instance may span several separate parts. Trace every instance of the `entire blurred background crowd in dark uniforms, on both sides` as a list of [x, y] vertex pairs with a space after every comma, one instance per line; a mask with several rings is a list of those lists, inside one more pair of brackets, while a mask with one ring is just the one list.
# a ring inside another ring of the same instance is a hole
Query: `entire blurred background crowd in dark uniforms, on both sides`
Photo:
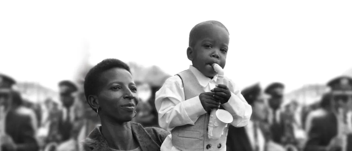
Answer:
[[[59, 100], [47, 98], [33, 103], [14, 89], [16, 81], [0, 74], [0, 151], [82, 151], [80, 141], [99, 124], [99, 117], [86, 102], [77, 83], [58, 83]], [[155, 93], [162, 82], [151, 85], [136, 82], [140, 101], [133, 122], [144, 127], [159, 127]], [[243, 89], [242, 94], [253, 108], [251, 120], [262, 123], [260, 131], [290, 151], [352, 150], [348, 144], [352, 132], [352, 78], [341, 76], [327, 83], [326, 92], [318, 103], [303, 105], [297, 100], [284, 101], [284, 84], [272, 83], [262, 90], [260, 84]], [[231, 129], [230, 129], [231, 131]], [[238, 134], [240, 130], [235, 130]], [[231, 137], [231, 132], [229, 132]], [[241, 150], [247, 142], [231, 140]], [[246, 138], [243, 138], [244, 140]], [[247, 145], [247, 146], [246, 146]], [[342, 146], [342, 147], [341, 147]], [[258, 150], [259, 151], [259, 150]]]

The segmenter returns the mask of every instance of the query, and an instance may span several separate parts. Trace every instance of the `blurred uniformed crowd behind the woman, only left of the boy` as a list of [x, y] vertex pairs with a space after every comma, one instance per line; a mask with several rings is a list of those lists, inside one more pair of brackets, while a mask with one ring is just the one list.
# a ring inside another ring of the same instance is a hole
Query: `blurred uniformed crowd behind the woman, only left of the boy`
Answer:
[[[0, 151], [83, 150], [80, 141], [99, 124], [99, 117], [86, 102], [79, 84], [58, 83], [59, 100], [51, 97], [32, 102], [14, 87], [17, 81], [0, 74]], [[158, 127], [155, 92], [161, 86], [136, 82], [140, 102], [134, 122]], [[73, 147], [74, 146], [74, 147]]]

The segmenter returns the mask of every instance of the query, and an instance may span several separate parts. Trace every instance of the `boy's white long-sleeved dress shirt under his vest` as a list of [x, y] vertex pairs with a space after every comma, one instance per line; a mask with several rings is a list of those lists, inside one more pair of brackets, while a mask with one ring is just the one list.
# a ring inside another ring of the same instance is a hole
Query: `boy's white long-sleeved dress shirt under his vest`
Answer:
[[[211, 89], [215, 88], [217, 76], [210, 79], [192, 65], [190, 65], [189, 69], [195, 75], [205, 92], [210, 92]], [[240, 89], [234, 83], [233, 87], [236, 94], [231, 92], [230, 99], [227, 103], [223, 104], [223, 107], [233, 116], [231, 125], [243, 127], [249, 122], [252, 107], [246, 102], [240, 93]], [[199, 96], [185, 100], [183, 83], [177, 75], [168, 78], [164, 85], [156, 92], [155, 106], [159, 115], [159, 125], [166, 131], [171, 131], [176, 126], [194, 125], [201, 115], [207, 113], [200, 102]], [[161, 151], [178, 151], [172, 145], [171, 138], [171, 134], [166, 137], [161, 146]]]

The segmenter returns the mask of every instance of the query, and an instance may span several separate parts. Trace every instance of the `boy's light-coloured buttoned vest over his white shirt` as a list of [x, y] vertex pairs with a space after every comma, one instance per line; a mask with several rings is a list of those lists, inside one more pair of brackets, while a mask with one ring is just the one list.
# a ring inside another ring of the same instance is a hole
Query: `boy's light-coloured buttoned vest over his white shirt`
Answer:
[[[185, 70], [177, 74], [181, 77], [185, 99], [188, 100], [205, 92], [192, 71]], [[233, 85], [224, 78], [224, 84], [233, 92]], [[208, 138], [209, 114], [201, 115], [194, 125], [177, 126], [172, 131], [172, 145], [181, 151], [226, 151], [228, 127], [219, 140]]]

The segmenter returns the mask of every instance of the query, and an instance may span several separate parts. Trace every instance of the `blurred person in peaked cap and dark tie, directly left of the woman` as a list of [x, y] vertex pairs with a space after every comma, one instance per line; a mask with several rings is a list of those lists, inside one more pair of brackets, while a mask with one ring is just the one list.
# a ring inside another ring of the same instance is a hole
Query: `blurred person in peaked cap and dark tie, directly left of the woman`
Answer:
[[[83, 126], [83, 111], [77, 106], [77, 86], [69, 81], [59, 82], [60, 101], [62, 109], [58, 114], [58, 121], [51, 122], [49, 136], [55, 136], [54, 140], [48, 141], [45, 149], [48, 150], [78, 150], [78, 134]], [[56, 129], [57, 128], [57, 129]]]

